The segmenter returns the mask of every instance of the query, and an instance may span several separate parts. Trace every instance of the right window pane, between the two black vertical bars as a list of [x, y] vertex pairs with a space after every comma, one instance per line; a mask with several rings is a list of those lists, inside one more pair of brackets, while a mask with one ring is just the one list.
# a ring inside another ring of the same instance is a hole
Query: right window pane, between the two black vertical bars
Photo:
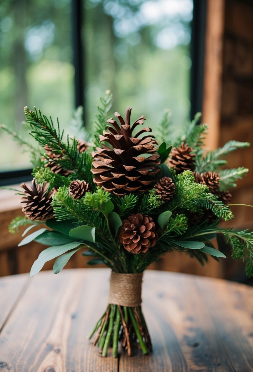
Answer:
[[179, 128], [190, 110], [192, 0], [86, 0], [86, 120], [110, 89], [114, 110], [147, 118], [147, 126], [172, 112]]

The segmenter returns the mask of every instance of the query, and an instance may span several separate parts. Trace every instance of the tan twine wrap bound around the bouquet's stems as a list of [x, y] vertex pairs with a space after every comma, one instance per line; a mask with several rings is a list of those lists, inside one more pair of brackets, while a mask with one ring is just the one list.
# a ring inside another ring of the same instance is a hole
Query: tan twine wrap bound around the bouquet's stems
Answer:
[[112, 271], [110, 279], [109, 304], [135, 307], [141, 305], [140, 274], [119, 274]]

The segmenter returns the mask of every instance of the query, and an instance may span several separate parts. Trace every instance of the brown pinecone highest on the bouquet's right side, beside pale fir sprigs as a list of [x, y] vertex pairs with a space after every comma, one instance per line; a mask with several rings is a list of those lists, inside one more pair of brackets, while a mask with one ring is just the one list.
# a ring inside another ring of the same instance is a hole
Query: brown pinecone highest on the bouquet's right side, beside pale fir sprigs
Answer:
[[195, 154], [191, 154], [191, 151], [193, 149], [184, 142], [178, 148], [173, 147], [170, 153], [169, 167], [173, 167], [177, 174], [188, 169], [194, 170]]

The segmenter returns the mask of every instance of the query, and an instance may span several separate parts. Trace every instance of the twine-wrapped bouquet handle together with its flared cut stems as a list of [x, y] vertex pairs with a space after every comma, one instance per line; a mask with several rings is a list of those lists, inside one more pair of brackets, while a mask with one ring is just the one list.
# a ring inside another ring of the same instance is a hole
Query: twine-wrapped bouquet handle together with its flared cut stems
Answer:
[[144, 354], [152, 349], [147, 324], [141, 310], [142, 273], [120, 274], [112, 271], [110, 280], [109, 305], [96, 323], [89, 338], [95, 334], [93, 344], [106, 356], [110, 340], [112, 355], [118, 355], [118, 343], [132, 355], [134, 346], [139, 344]]

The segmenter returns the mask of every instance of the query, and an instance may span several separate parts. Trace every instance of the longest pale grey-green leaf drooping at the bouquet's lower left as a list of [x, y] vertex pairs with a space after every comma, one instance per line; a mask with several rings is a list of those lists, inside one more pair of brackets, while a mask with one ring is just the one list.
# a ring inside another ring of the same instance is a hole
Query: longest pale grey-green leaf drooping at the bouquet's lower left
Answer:
[[63, 253], [66, 253], [78, 246], [80, 246], [82, 243], [80, 241], [72, 241], [71, 243], [64, 244], [63, 246], [53, 246], [53, 247], [48, 247], [45, 250], [43, 250], [40, 254], [39, 257], [37, 258], [36, 261], [34, 261], [33, 266], [30, 271], [30, 276], [36, 275], [44, 264], [47, 261], [52, 260], [55, 257], [60, 256]]

